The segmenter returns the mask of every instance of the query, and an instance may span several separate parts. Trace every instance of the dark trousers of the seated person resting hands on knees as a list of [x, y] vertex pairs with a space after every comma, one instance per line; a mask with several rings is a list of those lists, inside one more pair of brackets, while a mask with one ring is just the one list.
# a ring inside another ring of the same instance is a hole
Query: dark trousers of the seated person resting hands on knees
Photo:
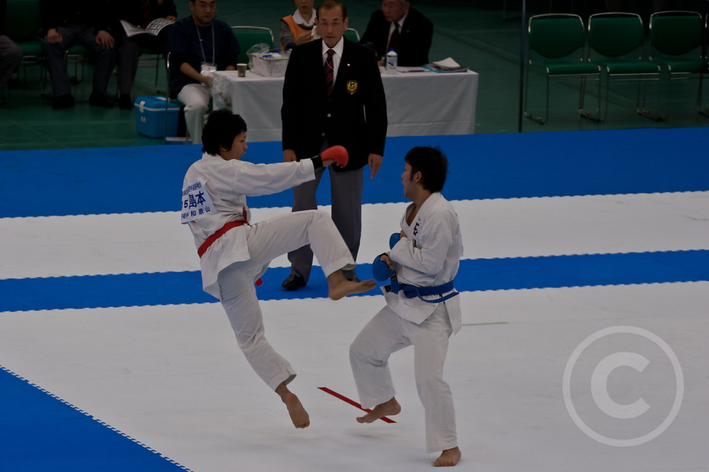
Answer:
[[76, 44], [86, 47], [91, 55], [91, 60], [94, 61], [94, 92], [105, 95], [108, 90], [108, 79], [111, 79], [111, 71], [116, 62], [116, 48], [104, 49], [101, 47], [96, 42], [92, 26], [62, 25], [57, 27], [57, 31], [62, 35], [62, 42], [50, 44], [47, 42], [47, 37], [44, 38], [44, 50], [49, 74], [52, 78], [54, 96], [60, 97], [72, 92], [65, 52]]

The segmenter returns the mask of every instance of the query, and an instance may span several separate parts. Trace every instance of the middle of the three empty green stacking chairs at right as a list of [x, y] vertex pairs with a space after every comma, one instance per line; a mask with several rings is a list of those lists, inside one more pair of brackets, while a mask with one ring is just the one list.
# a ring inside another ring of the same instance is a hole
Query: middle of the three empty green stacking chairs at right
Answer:
[[647, 80], [659, 84], [660, 70], [657, 62], [642, 57], [644, 28], [640, 15], [636, 13], [596, 13], [588, 18], [588, 52], [586, 59], [601, 68], [601, 100], [603, 111], [600, 115], [581, 110], [581, 116], [603, 121], [608, 114], [608, 94], [610, 81], [638, 81], [635, 108], [638, 113], [650, 115], [645, 109]]

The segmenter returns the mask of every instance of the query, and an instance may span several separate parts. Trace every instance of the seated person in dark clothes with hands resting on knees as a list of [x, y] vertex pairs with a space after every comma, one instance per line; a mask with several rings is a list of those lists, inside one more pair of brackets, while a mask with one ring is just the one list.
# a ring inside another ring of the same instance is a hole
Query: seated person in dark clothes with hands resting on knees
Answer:
[[106, 1], [100, 0], [40, 0], [44, 50], [52, 79], [52, 108], [55, 110], [74, 106], [65, 54], [75, 44], [86, 47], [94, 61], [94, 88], [89, 103], [113, 108], [113, 102], [106, 97], [106, 89], [116, 59], [116, 41], [108, 33], [111, 26], [108, 11]]

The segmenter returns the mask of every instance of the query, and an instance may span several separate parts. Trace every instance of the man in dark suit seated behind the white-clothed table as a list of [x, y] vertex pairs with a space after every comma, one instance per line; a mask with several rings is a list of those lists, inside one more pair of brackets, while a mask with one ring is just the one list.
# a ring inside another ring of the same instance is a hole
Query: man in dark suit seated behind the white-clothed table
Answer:
[[381, 10], [369, 18], [359, 44], [372, 47], [380, 64], [393, 49], [398, 54], [398, 65], [422, 66], [428, 64], [432, 36], [433, 23], [411, 8], [411, 1], [383, 0]]

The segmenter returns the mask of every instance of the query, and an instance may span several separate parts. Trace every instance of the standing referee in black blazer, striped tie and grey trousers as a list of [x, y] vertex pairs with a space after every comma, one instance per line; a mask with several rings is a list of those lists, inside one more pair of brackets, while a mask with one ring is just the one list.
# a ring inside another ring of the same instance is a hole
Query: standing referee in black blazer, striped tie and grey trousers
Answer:
[[[344, 168], [330, 166], [332, 217], [352, 258], [357, 260], [362, 233], [364, 166], [369, 177], [379, 171], [386, 139], [386, 98], [379, 67], [366, 47], [342, 38], [347, 8], [325, 0], [316, 11], [322, 37], [291, 52], [283, 86], [284, 161], [308, 159], [327, 146], [345, 146], [350, 160]], [[316, 180], [294, 188], [293, 211], [316, 209]], [[294, 290], [308, 282], [313, 265], [309, 246], [289, 253], [291, 275], [283, 287]], [[354, 269], [345, 277], [357, 280]]]

